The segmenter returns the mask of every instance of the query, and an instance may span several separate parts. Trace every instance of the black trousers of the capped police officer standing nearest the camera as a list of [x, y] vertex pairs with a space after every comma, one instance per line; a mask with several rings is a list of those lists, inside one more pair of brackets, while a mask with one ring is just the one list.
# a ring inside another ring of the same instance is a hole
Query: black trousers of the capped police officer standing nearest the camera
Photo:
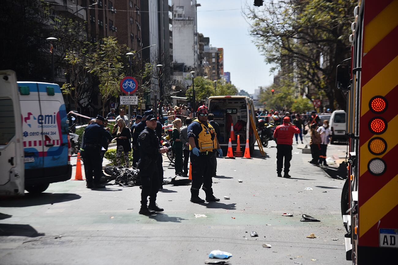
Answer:
[[146, 169], [138, 173], [141, 179], [141, 204], [145, 205], [149, 196], [149, 202], [155, 203], [159, 191], [159, 176], [157, 160], [151, 162]]

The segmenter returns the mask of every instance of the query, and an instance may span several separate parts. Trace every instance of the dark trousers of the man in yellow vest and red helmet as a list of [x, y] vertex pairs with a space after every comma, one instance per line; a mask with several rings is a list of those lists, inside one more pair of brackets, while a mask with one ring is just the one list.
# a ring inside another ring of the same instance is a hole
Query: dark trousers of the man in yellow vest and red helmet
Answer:
[[203, 184], [206, 195], [213, 195], [213, 152], [199, 153], [199, 157], [191, 153], [192, 185], [191, 194], [199, 195], [199, 189]]

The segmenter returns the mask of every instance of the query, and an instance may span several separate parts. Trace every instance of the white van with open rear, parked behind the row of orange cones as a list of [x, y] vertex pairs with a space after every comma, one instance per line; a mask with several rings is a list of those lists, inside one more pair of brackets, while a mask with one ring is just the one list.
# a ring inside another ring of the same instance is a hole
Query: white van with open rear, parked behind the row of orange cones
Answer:
[[[217, 139], [219, 139], [223, 153], [226, 154], [224, 151], [228, 148], [231, 124], [233, 124], [235, 136], [240, 135], [241, 151], [245, 151], [246, 139], [249, 139], [250, 155], [252, 155], [255, 139], [250, 126], [250, 114], [254, 122], [257, 123], [257, 117], [254, 116], [253, 100], [246, 96], [214, 96], [207, 99], [206, 106], [209, 108], [209, 112], [214, 114], [214, 120], [220, 126], [220, 135], [217, 136]], [[232, 147], [235, 151], [236, 141], [232, 141]]]

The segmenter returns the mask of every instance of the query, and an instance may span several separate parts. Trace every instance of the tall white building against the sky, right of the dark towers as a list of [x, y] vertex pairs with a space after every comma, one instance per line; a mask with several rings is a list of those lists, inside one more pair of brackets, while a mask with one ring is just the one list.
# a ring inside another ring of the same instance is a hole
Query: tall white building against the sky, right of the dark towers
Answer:
[[173, 0], [174, 61], [183, 63], [186, 72], [197, 70], [199, 61], [196, 0]]

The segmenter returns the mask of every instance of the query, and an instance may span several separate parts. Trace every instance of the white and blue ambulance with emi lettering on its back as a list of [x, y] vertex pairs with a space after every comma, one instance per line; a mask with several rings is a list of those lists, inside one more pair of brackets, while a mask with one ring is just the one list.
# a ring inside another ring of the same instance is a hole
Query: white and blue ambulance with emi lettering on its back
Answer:
[[[16, 82], [0, 71], [0, 195], [45, 191], [72, 174], [64, 100], [59, 85]], [[23, 153], [21, 153], [21, 148]]]

